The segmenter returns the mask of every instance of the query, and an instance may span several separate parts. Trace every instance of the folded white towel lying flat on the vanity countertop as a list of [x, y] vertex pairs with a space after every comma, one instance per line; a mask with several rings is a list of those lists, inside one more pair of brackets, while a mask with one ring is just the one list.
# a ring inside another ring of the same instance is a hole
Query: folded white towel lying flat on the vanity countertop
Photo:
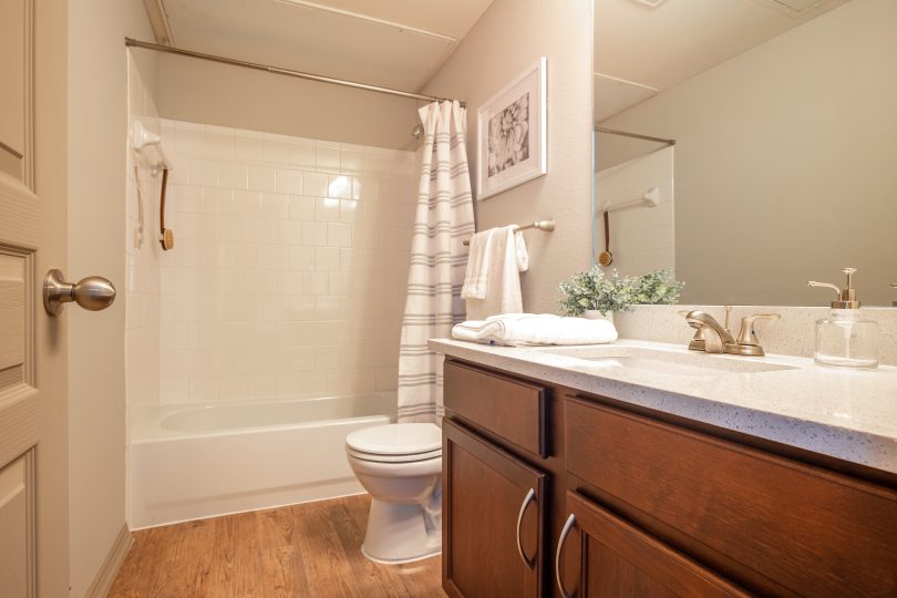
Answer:
[[487, 344], [605, 344], [617, 340], [608, 320], [561, 318], [551, 313], [507, 313], [455, 324], [452, 337]]

